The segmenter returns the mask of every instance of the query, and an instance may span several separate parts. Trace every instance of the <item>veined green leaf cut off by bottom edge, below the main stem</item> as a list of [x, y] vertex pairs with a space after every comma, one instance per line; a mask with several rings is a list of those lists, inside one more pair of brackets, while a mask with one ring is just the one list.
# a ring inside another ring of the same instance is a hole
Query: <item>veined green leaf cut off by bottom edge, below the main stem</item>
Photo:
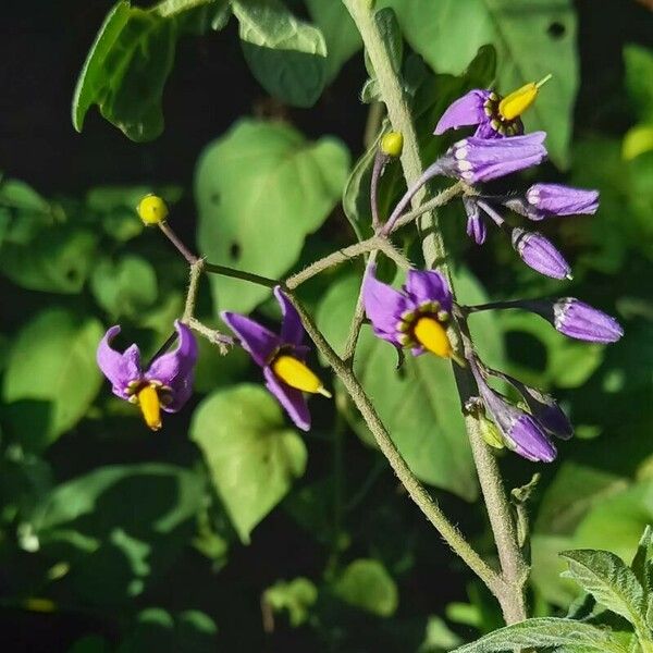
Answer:
[[612, 640], [609, 631], [589, 624], [554, 617], [527, 619], [506, 626], [471, 644], [455, 649], [454, 653], [494, 653], [513, 651], [520, 646], [563, 645], [584, 646], [588, 651], [600, 653], [626, 653], [625, 649]]

